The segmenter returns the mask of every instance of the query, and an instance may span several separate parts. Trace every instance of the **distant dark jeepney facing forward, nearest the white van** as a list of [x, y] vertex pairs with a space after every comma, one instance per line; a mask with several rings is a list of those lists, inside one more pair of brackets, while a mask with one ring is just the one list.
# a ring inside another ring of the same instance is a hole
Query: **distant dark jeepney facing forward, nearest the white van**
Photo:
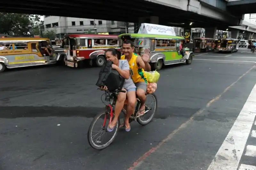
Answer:
[[237, 52], [238, 39], [220, 38], [215, 40], [214, 52]]

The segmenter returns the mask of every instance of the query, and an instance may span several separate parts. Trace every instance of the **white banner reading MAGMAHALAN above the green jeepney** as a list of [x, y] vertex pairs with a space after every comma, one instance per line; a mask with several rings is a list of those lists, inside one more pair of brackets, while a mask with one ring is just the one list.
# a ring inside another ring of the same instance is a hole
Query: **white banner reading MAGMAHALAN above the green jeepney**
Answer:
[[176, 36], [173, 27], [164, 25], [142, 23], [138, 31], [139, 34], [158, 34]]

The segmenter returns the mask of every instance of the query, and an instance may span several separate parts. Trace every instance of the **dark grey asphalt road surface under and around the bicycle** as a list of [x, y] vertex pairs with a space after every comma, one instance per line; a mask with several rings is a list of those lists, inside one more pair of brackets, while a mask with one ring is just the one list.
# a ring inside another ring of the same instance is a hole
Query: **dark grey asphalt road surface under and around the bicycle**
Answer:
[[92, 118], [104, 109], [95, 86], [99, 68], [1, 73], [0, 169], [207, 170], [256, 84], [255, 61], [256, 54], [239, 48], [196, 53], [191, 65], [165, 67], [154, 120], [143, 127], [133, 122], [102, 151], [87, 141]]

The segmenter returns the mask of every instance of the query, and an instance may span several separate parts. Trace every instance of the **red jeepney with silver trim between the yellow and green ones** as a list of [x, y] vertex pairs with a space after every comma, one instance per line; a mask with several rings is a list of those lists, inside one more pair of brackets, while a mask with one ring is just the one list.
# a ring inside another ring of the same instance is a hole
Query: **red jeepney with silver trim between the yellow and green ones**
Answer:
[[77, 67], [80, 61], [90, 61], [90, 65], [103, 66], [105, 51], [118, 46], [117, 35], [102, 34], [68, 34], [63, 39], [64, 48], [67, 50], [66, 65]]

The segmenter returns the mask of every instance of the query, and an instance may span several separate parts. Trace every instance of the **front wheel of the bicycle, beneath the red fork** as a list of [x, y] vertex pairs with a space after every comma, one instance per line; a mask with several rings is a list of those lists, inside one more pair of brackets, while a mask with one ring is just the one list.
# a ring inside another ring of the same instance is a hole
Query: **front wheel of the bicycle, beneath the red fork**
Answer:
[[[103, 121], [100, 123], [100, 125], [97, 126], [96, 123], [100, 122], [100, 120], [103, 120]], [[92, 148], [97, 150], [104, 149], [108, 147], [116, 138], [120, 121], [118, 119], [114, 130], [112, 132], [108, 132], [107, 128], [108, 128], [109, 120], [110, 120], [110, 114], [108, 111], [97, 114], [93, 118], [87, 134], [88, 142]], [[99, 128], [99, 131], [93, 130], [96, 127]], [[96, 135], [99, 135], [99, 136], [97, 137]], [[110, 139], [104, 140], [103, 137], [106, 137], [107, 135], [109, 135]], [[106, 143], [104, 143], [103, 141], [106, 141]]]

